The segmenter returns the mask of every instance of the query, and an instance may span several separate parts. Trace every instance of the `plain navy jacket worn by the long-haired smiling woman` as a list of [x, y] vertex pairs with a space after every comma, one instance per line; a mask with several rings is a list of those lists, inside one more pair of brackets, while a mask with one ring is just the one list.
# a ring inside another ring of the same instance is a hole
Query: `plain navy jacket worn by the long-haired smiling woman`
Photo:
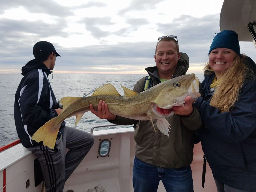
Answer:
[[[250, 64], [255, 69], [255, 63]], [[235, 189], [255, 192], [256, 81], [247, 79], [231, 111], [221, 113], [209, 104], [214, 76], [205, 75], [204, 95], [194, 104], [205, 125], [199, 130], [202, 149], [215, 179]]]

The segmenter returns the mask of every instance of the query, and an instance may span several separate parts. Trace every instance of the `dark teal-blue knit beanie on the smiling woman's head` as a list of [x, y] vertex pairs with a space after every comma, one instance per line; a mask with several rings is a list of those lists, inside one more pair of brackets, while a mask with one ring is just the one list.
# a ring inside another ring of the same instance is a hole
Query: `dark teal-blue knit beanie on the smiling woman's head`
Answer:
[[218, 33], [213, 38], [208, 56], [213, 49], [217, 48], [229, 48], [235, 51], [238, 55], [240, 55], [240, 46], [237, 33], [230, 30], [224, 30]]

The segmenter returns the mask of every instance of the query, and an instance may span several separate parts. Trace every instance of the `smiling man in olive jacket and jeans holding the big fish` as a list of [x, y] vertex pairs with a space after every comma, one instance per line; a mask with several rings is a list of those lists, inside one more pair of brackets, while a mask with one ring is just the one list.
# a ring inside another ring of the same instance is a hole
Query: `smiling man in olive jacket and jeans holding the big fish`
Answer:
[[[165, 108], [161, 108], [159, 105], [156, 107], [160, 114], [166, 115], [162, 119], [168, 121], [170, 131], [162, 131], [160, 129], [161, 124], [157, 123], [159, 120], [152, 120], [152, 118], [148, 121], [145, 119], [134, 120], [110, 113], [110, 106], [102, 100], [98, 103], [98, 106], [90, 105], [90, 109], [99, 118], [108, 119], [114, 124], [134, 124], [136, 152], [133, 186], [135, 192], [156, 192], [160, 180], [162, 180], [167, 192], [193, 192], [190, 168], [193, 159], [193, 134], [194, 130], [201, 127], [202, 122], [199, 112], [193, 107], [192, 103], [200, 94], [189, 91], [180, 95], [178, 89], [175, 91], [184, 83], [176, 77], [184, 75], [188, 70], [188, 56], [179, 52], [177, 36], [158, 38], [154, 57], [156, 66], [145, 69], [151, 79], [151, 87], [157, 84], [160, 85], [161, 82], [169, 79], [177, 79], [176, 82], [172, 82], [174, 88], [169, 92], [173, 94], [173, 98], [179, 98], [180, 102]], [[140, 79], [133, 90], [140, 94], [145, 89], [150, 88], [145, 86], [146, 81], [146, 77]], [[185, 89], [191, 89], [189, 84], [185, 85]], [[159, 103], [159, 100], [155, 103]], [[168, 100], [170, 99], [168, 98]], [[174, 112], [176, 114], [170, 115]], [[150, 116], [150, 114], [147, 114], [147, 116]], [[155, 129], [155, 127], [158, 129]]]

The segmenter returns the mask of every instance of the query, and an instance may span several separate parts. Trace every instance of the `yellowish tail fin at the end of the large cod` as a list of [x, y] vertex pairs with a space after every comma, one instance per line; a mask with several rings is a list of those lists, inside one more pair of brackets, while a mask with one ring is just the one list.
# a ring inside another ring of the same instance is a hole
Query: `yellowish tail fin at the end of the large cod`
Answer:
[[40, 127], [34, 133], [34, 135], [32, 135], [31, 139], [38, 143], [43, 141], [44, 146], [48, 146], [49, 148], [53, 149], [60, 128], [60, 124], [55, 123], [55, 118], [49, 120], [42, 127]]

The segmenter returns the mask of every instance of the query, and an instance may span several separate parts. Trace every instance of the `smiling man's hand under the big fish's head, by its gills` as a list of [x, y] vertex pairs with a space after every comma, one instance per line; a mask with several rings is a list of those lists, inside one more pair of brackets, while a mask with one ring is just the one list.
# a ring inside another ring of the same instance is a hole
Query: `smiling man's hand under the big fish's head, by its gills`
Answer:
[[189, 116], [189, 115], [191, 115], [193, 113], [193, 106], [192, 106], [192, 104], [194, 102], [195, 102], [195, 99], [192, 99], [191, 96], [187, 96], [187, 97], [185, 97], [184, 107], [182, 107], [182, 106], [175, 106], [175, 107], [172, 107], [172, 110], [177, 115]]

